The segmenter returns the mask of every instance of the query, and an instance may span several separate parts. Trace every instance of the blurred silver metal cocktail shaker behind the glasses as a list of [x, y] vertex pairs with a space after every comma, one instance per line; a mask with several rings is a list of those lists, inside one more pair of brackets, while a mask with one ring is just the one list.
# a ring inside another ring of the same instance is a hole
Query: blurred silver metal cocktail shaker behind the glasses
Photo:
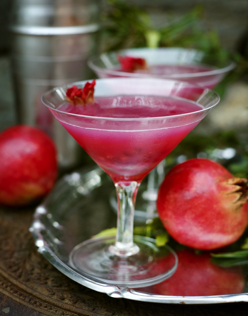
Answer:
[[79, 148], [41, 103], [56, 86], [92, 78], [87, 66], [97, 52], [97, 0], [14, 0], [12, 69], [19, 122], [47, 132], [58, 149], [61, 167], [78, 162]]

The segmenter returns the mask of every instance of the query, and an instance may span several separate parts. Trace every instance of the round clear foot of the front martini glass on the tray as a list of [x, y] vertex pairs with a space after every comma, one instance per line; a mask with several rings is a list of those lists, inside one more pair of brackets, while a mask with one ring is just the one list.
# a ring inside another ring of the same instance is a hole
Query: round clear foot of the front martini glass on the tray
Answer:
[[116, 256], [115, 238], [92, 238], [74, 247], [70, 265], [88, 277], [118, 286], [140, 288], [151, 286], [170, 277], [178, 258], [165, 245], [157, 247], [153, 238], [134, 236], [139, 252], [126, 257]]

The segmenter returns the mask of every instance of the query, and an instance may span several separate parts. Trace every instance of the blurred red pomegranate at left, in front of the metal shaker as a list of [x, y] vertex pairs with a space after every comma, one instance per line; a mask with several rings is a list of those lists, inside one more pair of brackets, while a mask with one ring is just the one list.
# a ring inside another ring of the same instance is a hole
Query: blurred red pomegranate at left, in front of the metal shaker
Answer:
[[53, 141], [43, 131], [15, 125], [0, 134], [0, 203], [24, 206], [48, 193], [56, 180]]

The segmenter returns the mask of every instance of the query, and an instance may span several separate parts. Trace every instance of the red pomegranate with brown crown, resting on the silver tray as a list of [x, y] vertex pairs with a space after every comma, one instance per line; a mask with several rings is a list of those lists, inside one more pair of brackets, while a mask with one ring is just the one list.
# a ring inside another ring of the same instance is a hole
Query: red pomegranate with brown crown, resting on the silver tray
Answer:
[[217, 162], [190, 159], [166, 175], [158, 192], [158, 214], [183, 245], [202, 250], [227, 246], [248, 224], [245, 182]]

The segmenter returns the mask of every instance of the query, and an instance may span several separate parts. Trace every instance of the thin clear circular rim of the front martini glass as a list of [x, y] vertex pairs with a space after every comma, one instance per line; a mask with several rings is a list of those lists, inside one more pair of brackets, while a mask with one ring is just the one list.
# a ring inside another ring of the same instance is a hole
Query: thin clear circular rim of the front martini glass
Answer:
[[[167, 115], [167, 116], [155, 116], [155, 117], [143, 117], [143, 118], [113, 118], [113, 117], [105, 117], [105, 116], [90, 116], [90, 115], [83, 115], [83, 114], [76, 114], [76, 113], [69, 113], [69, 112], [64, 112], [64, 111], [61, 111], [61, 110], [58, 110], [58, 109], [55, 109], [54, 107], [52, 107], [52, 103], [49, 102], [48, 100], [45, 100], [46, 96], [48, 96], [49, 94], [51, 94], [52, 92], [56, 92], [59, 90], [59, 88], [71, 88], [73, 85], [77, 86], [78, 84], [86, 84], [86, 82], [88, 81], [92, 81], [93, 79], [89, 79], [89, 80], [83, 80], [83, 81], [77, 81], [77, 82], [73, 82], [73, 83], [70, 83], [70, 84], [66, 84], [66, 85], [63, 85], [63, 86], [59, 86], [59, 87], [55, 87], [47, 92], [45, 92], [43, 94], [43, 96], [41, 97], [41, 101], [42, 103], [48, 107], [49, 109], [53, 110], [53, 111], [56, 111], [58, 113], [61, 113], [61, 114], [66, 114], [66, 115], [70, 115], [70, 116], [75, 116], [75, 117], [82, 117], [82, 118], [88, 118], [88, 119], [98, 119], [98, 120], [108, 120], [108, 121], [147, 121], [147, 120], [161, 120], [161, 119], [173, 119], [173, 118], [180, 118], [180, 117], [185, 117], [187, 115], [190, 115], [190, 114], [198, 114], [198, 113], [202, 113], [202, 112], [205, 112], [206, 110], [210, 110], [212, 109], [214, 106], [216, 106], [216, 104], [219, 103], [220, 101], [220, 96], [219, 94], [214, 91], [214, 90], [211, 90], [209, 88], [205, 88], [205, 87], [202, 87], [198, 84], [191, 84], [191, 83], [188, 83], [188, 82], [185, 82], [185, 81], [178, 81], [178, 80], [171, 80], [171, 79], [162, 79], [162, 78], [101, 78], [101, 79], [95, 79], [96, 80], [96, 84], [98, 81], [130, 81], [130, 80], [133, 80], [133, 81], [169, 81], [169, 82], [175, 82], [175, 83], [182, 83], [184, 84], [185, 86], [188, 86], [188, 87], [195, 87], [195, 88], [201, 88], [203, 90], [203, 94], [204, 96], [210, 92], [212, 93], [213, 95], [215, 95], [216, 97], [216, 100], [214, 102], [214, 104], [212, 104], [211, 106], [207, 106], [201, 110], [198, 110], [198, 111], [194, 111], [194, 112], [188, 112], [188, 113], [183, 113], [183, 114], [175, 114], [175, 115]], [[205, 93], [204, 93], [205, 91]], [[61, 92], [61, 91], [60, 91]], [[134, 94], [122, 94], [123, 96], [132, 96]], [[111, 95], [106, 95], [106, 97], [108, 96], [111, 96]], [[117, 96], [117, 95], [113, 95], [113, 96]], [[120, 95], [119, 95], [120, 96]], [[154, 95], [156, 96], [156, 95]], [[162, 96], [163, 97], [163, 96]], [[164, 97], [167, 97], [167, 96], [164, 96]], [[171, 96], [172, 98], [174, 99], [178, 99], [178, 100], [187, 100], [188, 102], [194, 102], [193, 100], [189, 100], [189, 99], [186, 99], [186, 98], [183, 98], [183, 97], [177, 97], [177, 96]], [[200, 96], [200, 100], [202, 99], [202, 94]], [[199, 100], [199, 99], [198, 99]], [[46, 103], [47, 102], [47, 103]], [[50, 105], [49, 105], [49, 104]], [[196, 102], [194, 102], [196, 104]], [[199, 105], [199, 104], [198, 104]]]

